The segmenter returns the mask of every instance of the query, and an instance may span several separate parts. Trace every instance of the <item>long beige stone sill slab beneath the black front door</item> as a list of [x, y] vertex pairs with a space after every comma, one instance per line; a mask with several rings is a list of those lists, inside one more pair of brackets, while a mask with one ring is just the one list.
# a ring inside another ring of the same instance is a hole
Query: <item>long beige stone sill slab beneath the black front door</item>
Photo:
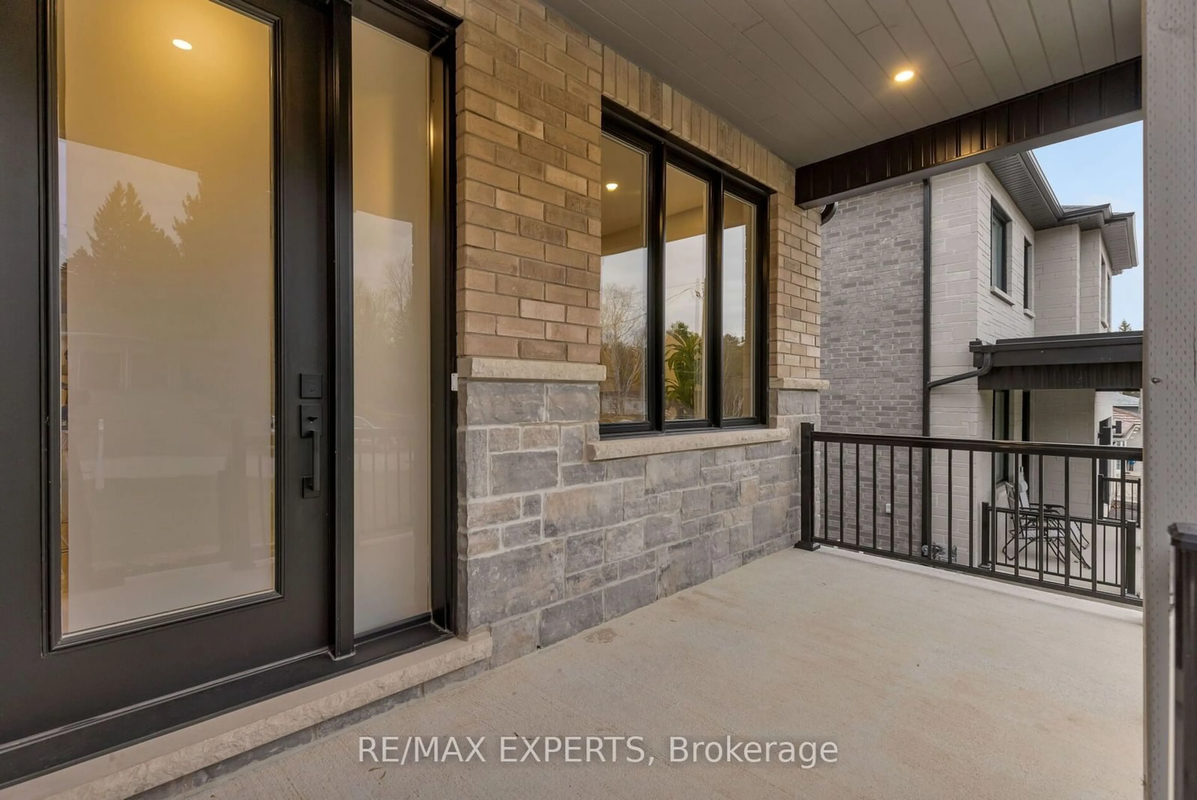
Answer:
[[365, 666], [346, 665], [298, 689], [0, 789], [0, 800], [128, 798], [490, 657], [491, 635], [481, 632]]

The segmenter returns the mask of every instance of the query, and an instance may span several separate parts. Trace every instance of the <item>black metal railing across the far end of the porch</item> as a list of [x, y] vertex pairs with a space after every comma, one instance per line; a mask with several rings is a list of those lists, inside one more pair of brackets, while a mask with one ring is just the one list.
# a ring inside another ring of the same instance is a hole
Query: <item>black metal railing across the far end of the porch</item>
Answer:
[[[1140, 604], [1142, 450], [802, 426], [802, 546]], [[1117, 467], [1107, 474], [1110, 467]]]

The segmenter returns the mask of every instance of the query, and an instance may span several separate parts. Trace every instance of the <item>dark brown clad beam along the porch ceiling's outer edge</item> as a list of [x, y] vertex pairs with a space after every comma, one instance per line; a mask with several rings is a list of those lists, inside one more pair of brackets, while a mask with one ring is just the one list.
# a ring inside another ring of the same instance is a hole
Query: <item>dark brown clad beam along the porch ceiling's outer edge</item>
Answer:
[[800, 166], [795, 202], [810, 208], [879, 183], [912, 181], [1130, 122], [1143, 110], [1142, 79], [1142, 59], [1130, 59]]

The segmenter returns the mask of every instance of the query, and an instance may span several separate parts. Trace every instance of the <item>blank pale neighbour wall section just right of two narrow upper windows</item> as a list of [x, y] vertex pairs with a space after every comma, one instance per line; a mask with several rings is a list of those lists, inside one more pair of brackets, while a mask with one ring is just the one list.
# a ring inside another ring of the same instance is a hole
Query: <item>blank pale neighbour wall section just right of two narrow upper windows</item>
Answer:
[[1034, 335], [1080, 333], [1081, 229], [1052, 228], [1035, 234]]

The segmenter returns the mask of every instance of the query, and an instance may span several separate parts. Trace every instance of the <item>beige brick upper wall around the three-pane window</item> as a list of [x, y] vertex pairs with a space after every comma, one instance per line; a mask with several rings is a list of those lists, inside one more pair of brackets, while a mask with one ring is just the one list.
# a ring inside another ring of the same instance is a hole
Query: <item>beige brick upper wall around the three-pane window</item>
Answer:
[[457, 47], [458, 354], [598, 362], [601, 98], [773, 188], [770, 377], [819, 377], [819, 217], [794, 168], [534, 0], [445, 0]]

